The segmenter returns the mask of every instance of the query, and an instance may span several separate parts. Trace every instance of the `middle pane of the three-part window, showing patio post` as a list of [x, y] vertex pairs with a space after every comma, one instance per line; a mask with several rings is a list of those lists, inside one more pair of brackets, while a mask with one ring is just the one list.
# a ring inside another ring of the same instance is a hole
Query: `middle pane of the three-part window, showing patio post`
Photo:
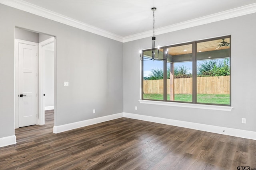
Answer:
[[168, 101], [192, 102], [192, 44], [168, 47]]

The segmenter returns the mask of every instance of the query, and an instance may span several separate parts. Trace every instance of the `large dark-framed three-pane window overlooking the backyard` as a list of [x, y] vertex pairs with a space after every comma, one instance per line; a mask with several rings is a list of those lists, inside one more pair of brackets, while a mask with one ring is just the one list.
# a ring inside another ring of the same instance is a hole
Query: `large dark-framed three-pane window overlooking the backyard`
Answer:
[[142, 100], [230, 106], [230, 38], [162, 47], [167, 60], [142, 61]]

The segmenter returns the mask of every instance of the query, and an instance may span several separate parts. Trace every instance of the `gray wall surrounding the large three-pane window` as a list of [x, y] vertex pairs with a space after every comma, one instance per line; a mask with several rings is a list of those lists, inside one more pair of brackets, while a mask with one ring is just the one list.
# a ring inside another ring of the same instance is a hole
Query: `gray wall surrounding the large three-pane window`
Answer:
[[[139, 50], [151, 47], [151, 37], [124, 43], [124, 112], [220, 127], [256, 131], [256, 14], [156, 35], [156, 43], [171, 45], [231, 35], [232, 109], [207, 109], [140, 104]], [[138, 106], [138, 110], [134, 107]], [[246, 118], [246, 124], [241, 123]]]

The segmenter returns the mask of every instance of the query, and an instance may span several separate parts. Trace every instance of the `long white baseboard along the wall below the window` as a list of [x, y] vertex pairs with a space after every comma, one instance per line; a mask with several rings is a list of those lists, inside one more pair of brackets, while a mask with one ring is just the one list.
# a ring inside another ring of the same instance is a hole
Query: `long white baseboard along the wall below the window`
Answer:
[[256, 140], [256, 132], [254, 131], [245, 131], [240, 129], [232, 129], [228, 127], [205, 125], [200, 123], [192, 123], [187, 121], [179, 121], [179, 120], [166, 119], [166, 118], [160, 118], [160, 117], [138, 115], [133, 113], [124, 113], [124, 117]]

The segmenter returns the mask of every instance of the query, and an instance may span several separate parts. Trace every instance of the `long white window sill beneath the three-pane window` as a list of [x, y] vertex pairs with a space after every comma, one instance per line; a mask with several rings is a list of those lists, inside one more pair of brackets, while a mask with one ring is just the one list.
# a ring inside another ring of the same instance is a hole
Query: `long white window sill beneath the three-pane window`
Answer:
[[231, 111], [233, 107], [231, 106], [216, 106], [216, 105], [206, 105], [206, 104], [190, 104], [190, 103], [176, 103], [176, 102], [162, 102], [162, 101], [152, 101], [152, 100], [139, 100], [141, 104], [155, 104], [163, 106], [175, 106], [175, 107], [189, 107], [196, 109], [210, 109], [210, 110], [220, 110], [220, 111]]

